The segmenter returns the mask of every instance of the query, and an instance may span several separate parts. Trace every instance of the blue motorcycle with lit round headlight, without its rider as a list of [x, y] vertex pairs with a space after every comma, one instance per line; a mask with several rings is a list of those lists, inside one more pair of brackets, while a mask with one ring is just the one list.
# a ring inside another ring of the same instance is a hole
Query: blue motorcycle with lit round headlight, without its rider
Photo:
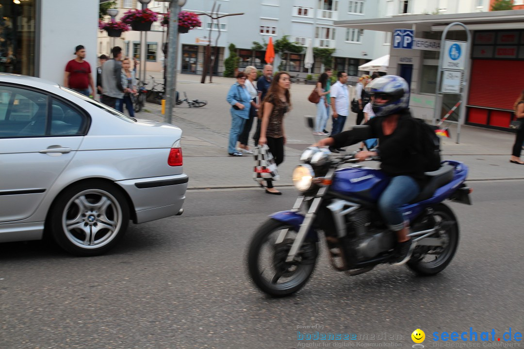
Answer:
[[[260, 290], [283, 297], [301, 289], [315, 268], [321, 232], [337, 271], [354, 276], [394, 260], [396, 235], [376, 207], [390, 178], [362, 164], [348, 167], [358, 161], [355, 154], [333, 157], [314, 147], [302, 153], [293, 171], [300, 192], [293, 208], [271, 215], [249, 244], [248, 272]], [[459, 224], [442, 202], [471, 205], [467, 172], [461, 162], [443, 161], [439, 170], [425, 173], [427, 185], [402, 208], [416, 244], [407, 266], [419, 275], [441, 272], [456, 252]]]

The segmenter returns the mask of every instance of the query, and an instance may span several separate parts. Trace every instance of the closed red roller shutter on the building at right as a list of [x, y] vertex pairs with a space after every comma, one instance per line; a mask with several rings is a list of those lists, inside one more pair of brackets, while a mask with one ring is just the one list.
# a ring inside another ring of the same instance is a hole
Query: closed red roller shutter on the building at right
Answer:
[[524, 61], [473, 60], [468, 105], [512, 110], [523, 77]]

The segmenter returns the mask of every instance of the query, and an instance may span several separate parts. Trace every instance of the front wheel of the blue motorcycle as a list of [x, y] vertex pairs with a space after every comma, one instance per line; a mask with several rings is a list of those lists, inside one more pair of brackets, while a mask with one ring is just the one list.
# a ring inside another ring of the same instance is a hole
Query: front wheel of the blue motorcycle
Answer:
[[285, 297], [308, 282], [318, 257], [318, 244], [304, 242], [297, 258], [286, 262], [297, 230], [269, 219], [255, 232], [247, 253], [248, 273], [255, 285], [272, 297]]

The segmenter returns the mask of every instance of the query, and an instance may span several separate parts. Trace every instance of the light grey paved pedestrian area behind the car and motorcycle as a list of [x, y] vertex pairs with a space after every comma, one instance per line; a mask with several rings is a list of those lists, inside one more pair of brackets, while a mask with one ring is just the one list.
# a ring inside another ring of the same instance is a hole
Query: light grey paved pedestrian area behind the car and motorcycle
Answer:
[[[162, 73], [156, 74], [161, 78]], [[202, 108], [188, 108], [187, 104], [173, 108], [172, 123], [183, 130], [182, 149], [184, 171], [190, 176], [190, 189], [256, 187], [253, 181], [253, 156], [227, 156], [226, 143], [231, 124], [229, 107], [225, 95], [235, 82], [233, 78], [213, 77], [213, 83], [200, 84], [200, 75], [179, 74], [177, 91], [185, 91], [190, 99], [208, 100]], [[209, 77], [206, 78], [206, 82]], [[292, 85], [293, 109], [286, 116], [288, 136], [286, 158], [279, 166], [279, 186], [291, 186], [291, 173], [299, 164], [302, 150], [314, 142], [310, 130], [305, 127], [303, 115], [314, 114], [312, 104], [305, 102], [310, 85]], [[303, 102], [302, 102], [303, 101]], [[313, 105], [314, 106], [314, 105]], [[138, 118], [162, 121], [161, 106], [146, 103], [146, 111]], [[351, 128], [354, 114], [348, 116], [346, 128]], [[329, 128], [331, 122], [328, 124]], [[484, 128], [462, 126], [460, 144], [456, 143], [457, 125], [445, 124], [451, 131], [451, 139], [441, 138], [442, 159], [464, 162], [469, 168], [470, 181], [524, 179], [524, 166], [509, 163], [509, 154], [515, 141], [515, 134]], [[255, 131], [253, 127], [252, 133]], [[348, 147], [353, 151], [358, 145]], [[377, 167], [378, 163], [368, 162], [366, 166]], [[521, 168], [522, 167], [522, 168]]]

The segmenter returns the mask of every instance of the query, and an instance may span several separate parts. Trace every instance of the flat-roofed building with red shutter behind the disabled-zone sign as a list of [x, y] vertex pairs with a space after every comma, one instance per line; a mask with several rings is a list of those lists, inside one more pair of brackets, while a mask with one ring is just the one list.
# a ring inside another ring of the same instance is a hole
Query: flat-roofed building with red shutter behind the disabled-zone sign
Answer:
[[[509, 130], [513, 105], [524, 89], [520, 78], [524, 74], [524, 10], [347, 20], [337, 21], [335, 26], [385, 31], [392, 36], [397, 29], [413, 30], [411, 47], [391, 45], [387, 73], [400, 75], [409, 82], [410, 108], [418, 117], [431, 120], [439, 57], [444, 54], [440, 40], [442, 32], [453, 22], [461, 22], [470, 30], [471, 53], [462, 74], [462, 96], [441, 93], [442, 107], [436, 117], [443, 118], [461, 102], [461, 108], [446, 121]], [[446, 35], [446, 40], [466, 41], [466, 38], [466, 32], [459, 26], [452, 27]], [[463, 113], [461, 118], [459, 110]]]

